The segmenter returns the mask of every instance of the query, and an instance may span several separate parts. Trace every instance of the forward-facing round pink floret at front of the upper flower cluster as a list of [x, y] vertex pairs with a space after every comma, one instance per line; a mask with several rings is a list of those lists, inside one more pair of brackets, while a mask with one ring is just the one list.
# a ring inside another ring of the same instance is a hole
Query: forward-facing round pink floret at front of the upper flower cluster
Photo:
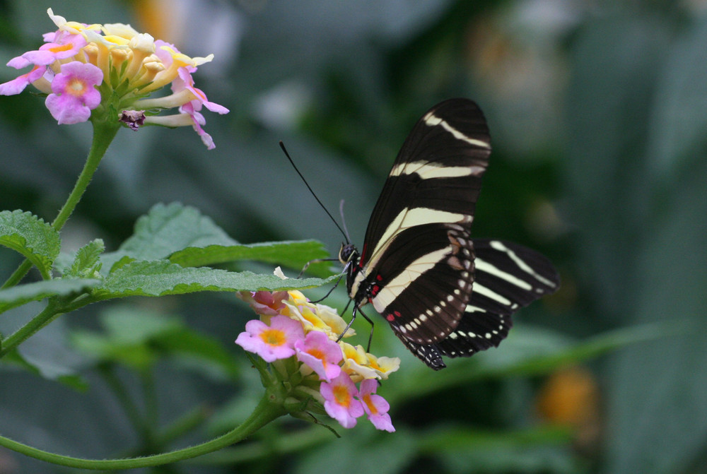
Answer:
[[100, 105], [100, 93], [94, 86], [101, 82], [103, 71], [93, 64], [62, 64], [62, 72], [52, 81], [52, 94], [45, 102], [47, 109], [59, 124], [86, 122], [90, 111]]

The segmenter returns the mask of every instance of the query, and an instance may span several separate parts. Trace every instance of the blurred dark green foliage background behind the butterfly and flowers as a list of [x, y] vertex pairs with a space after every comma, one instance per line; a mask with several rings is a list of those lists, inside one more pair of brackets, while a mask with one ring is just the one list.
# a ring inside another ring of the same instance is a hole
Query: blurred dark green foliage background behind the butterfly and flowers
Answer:
[[[474, 235], [538, 249], [563, 279], [558, 294], [515, 317], [501, 348], [443, 372], [414, 360], [381, 321], [373, 352], [403, 360], [379, 389], [395, 434], [361, 420], [335, 439], [284, 421], [244, 446], [149, 472], [707, 473], [705, 1], [5, 0], [0, 62], [40, 45], [54, 29], [49, 6], [69, 20], [131, 23], [190, 56], [213, 52], [197, 87], [230, 109], [204, 113], [211, 151], [191, 129], [120, 131], [62, 231], [65, 251], [95, 237], [115, 250], [139, 215], [180, 201], [240, 242], [320, 239], [335, 253], [341, 235], [279, 140], [334, 214], [345, 199], [360, 246], [415, 120], [463, 96], [484, 109], [494, 150]], [[0, 69], [0, 82], [15, 76]], [[52, 220], [81, 170], [90, 126], [57, 126], [30, 89], [0, 97], [0, 208]], [[0, 249], [3, 280], [19, 262]], [[343, 308], [340, 290], [328, 304]], [[3, 314], [0, 331], [37, 308]], [[233, 344], [250, 318], [234, 297], [214, 293], [64, 316], [23, 355], [45, 375], [79, 374], [86, 390], [0, 365], [0, 434], [91, 458], [219, 434], [260, 393]], [[163, 326], [144, 331], [147, 320]], [[600, 357], [523, 365], [649, 323], [657, 337]], [[115, 345], [112, 358], [81, 350], [77, 341], [111, 324], [134, 340]], [[228, 362], [170, 350], [173, 334], [213, 345]], [[195, 413], [195, 429], [157, 443], [125, 415], [126, 399], [148, 425]], [[30, 472], [70, 471], [0, 449], [1, 474]]]

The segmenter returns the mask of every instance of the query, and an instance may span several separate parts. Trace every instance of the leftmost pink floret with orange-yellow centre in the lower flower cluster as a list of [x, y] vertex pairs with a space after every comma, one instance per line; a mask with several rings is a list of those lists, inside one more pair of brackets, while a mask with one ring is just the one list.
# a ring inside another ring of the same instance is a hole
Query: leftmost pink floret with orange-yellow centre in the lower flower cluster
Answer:
[[295, 355], [295, 343], [305, 337], [302, 325], [287, 316], [274, 316], [270, 326], [254, 319], [245, 324], [235, 343], [248, 352], [254, 352], [265, 362], [286, 359]]

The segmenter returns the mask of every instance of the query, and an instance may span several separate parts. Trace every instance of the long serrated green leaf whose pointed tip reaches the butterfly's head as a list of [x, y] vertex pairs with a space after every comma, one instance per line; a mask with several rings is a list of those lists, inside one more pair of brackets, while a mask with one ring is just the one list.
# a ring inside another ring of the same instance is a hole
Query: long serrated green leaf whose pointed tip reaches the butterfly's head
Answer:
[[103, 285], [93, 289], [97, 300], [126, 296], [182, 295], [199, 291], [276, 291], [315, 288], [336, 279], [288, 278], [250, 271], [230, 272], [215, 268], [184, 268], [167, 260], [133, 261], [113, 271]]

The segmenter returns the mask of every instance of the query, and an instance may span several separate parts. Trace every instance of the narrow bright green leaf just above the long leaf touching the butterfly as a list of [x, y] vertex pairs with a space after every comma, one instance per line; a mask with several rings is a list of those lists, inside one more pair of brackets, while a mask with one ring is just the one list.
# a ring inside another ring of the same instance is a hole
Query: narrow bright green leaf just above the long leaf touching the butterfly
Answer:
[[[209, 245], [208, 247], [187, 247], [176, 251], [170, 261], [181, 266], [205, 266], [236, 260], [255, 260], [277, 263], [289, 268], [302, 268], [305, 263], [329, 256], [321, 242], [315, 240], [262, 242], [259, 244]], [[328, 263], [320, 265], [317, 274], [330, 275]], [[312, 264], [309, 270], [314, 270]]]

